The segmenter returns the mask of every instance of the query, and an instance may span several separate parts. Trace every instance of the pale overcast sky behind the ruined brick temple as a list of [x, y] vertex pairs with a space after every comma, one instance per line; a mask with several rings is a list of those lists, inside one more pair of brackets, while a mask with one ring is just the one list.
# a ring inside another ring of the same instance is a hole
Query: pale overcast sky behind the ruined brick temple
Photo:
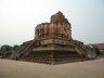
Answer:
[[57, 11], [70, 22], [74, 39], [104, 42], [104, 0], [0, 0], [0, 46], [34, 39], [36, 25]]

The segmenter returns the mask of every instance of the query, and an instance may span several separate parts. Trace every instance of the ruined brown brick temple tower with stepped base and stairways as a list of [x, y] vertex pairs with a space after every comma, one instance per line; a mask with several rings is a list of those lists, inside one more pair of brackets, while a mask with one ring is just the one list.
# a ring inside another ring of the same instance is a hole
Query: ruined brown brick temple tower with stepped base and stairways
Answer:
[[86, 49], [83, 42], [73, 40], [70, 23], [58, 11], [50, 23], [36, 26], [35, 39], [20, 50], [18, 58], [49, 64], [82, 61]]

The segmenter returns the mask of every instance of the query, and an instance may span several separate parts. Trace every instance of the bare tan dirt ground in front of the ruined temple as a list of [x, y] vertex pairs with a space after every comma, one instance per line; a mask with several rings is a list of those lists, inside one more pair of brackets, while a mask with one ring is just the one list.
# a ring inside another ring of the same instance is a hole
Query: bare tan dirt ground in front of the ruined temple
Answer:
[[0, 78], [104, 78], [104, 58], [60, 65], [0, 60]]

